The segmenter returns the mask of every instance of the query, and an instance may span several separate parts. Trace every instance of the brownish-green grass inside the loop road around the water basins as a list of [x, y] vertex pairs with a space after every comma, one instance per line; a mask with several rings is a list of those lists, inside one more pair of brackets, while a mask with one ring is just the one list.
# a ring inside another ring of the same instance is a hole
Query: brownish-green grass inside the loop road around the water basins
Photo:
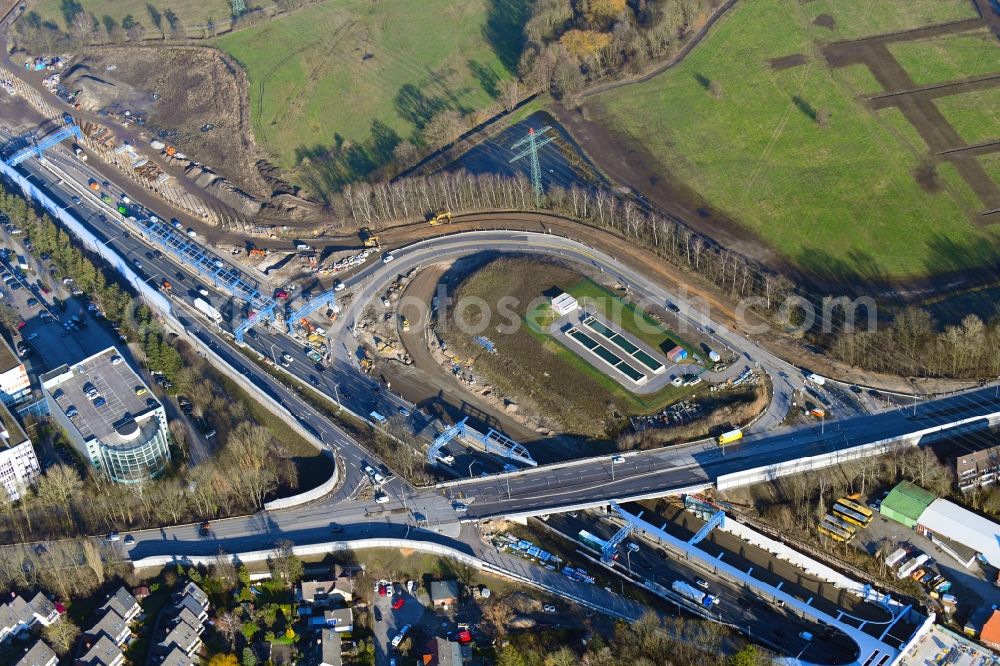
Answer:
[[[501, 297], [513, 296], [516, 299], [513, 313], [520, 325], [513, 332], [497, 332], [508, 315], [505, 313], [501, 319], [494, 313], [489, 325], [482, 327], [483, 333], [472, 329], [463, 332], [450, 313], [442, 334], [457, 357], [475, 359], [472, 368], [485, 376], [500, 394], [512, 396], [519, 404], [555, 419], [564, 432], [603, 439], [617, 431], [626, 415], [662, 409], [689, 396], [692, 389], [668, 386], [651, 395], [634, 395], [549, 335], [544, 330], [545, 323], [551, 320], [544, 315], [548, 306], [543, 302], [543, 294], [572, 291], [574, 286], [586, 284], [581, 278], [575, 270], [555, 263], [526, 258], [493, 261], [462, 281], [455, 295], [456, 303], [482, 298], [491, 309], [498, 310]], [[593, 286], [596, 293], [600, 287]], [[541, 321], [534, 313], [542, 314]], [[475, 308], [467, 308], [463, 319], [473, 325], [482, 321]], [[525, 323], [525, 319], [539, 326]], [[476, 344], [474, 337], [480, 334], [490, 337], [496, 354], [485, 353]], [[649, 341], [651, 335], [646, 332], [643, 339]], [[658, 342], [650, 344], [658, 349], [664, 337], [656, 339]]]

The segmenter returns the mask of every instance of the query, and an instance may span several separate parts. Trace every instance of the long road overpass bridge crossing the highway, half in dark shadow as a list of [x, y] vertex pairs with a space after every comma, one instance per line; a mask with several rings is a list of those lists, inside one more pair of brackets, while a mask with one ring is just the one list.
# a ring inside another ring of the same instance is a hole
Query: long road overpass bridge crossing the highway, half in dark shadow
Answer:
[[727, 490], [791, 474], [925, 446], [1000, 423], [994, 387], [977, 389], [881, 414], [757, 434], [725, 449], [712, 440], [600, 456], [489, 477], [438, 484], [468, 506], [466, 520], [525, 518], [716, 487]]

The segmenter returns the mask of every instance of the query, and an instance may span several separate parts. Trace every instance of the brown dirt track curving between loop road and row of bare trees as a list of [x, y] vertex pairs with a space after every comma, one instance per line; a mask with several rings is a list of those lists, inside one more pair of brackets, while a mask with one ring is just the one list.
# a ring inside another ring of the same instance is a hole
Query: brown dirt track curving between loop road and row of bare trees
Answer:
[[[636, 247], [633, 241], [622, 236], [558, 215], [532, 212], [468, 213], [456, 215], [449, 225], [431, 227], [426, 222], [419, 222], [381, 231], [379, 237], [383, 246], [390, 249], [449, 233], [490, 229], [553, 233], [597, 248], [664, 285], [683, 286], [688, 298], [702, 299], [714, 322], [745, 333], [736, 318], [738, 304], [720, 294], [713, 285], [704, 282], [697, 274], [684, 271], [648, 250]], [[778, 331], [770, 321], [753, 311], [747, 311], [744, 319], [748, 326], [763, 323], [771, 327], [772, 331], [766, 335], [749, 336], [749, 339], [756, 341], [761, 347], [789, 363], [840, 381], [920, 395], [948, 393], [976, 385], [975, 382], [937, 379], [911, 381], [903, 377], [862, 371], [808, 351], [800, 341]]]

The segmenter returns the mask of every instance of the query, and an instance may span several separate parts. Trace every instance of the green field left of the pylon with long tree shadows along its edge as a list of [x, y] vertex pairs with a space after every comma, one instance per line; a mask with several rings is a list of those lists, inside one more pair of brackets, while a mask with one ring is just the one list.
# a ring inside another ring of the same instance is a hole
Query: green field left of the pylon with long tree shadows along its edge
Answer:
[[520, 4], [328, 0], [214, 44], [246, 69], [255, 135], [281, 166], [339, 142], [378, 163], [434, 113], [491, 101], [520, 48], [501, 9]]

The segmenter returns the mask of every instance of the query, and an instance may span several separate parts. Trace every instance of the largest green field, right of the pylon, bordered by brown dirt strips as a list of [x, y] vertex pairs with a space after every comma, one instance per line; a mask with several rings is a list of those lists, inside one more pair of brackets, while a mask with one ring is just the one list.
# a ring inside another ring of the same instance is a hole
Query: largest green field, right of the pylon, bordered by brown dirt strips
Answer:
[[[868, 15], [870, 32], [878, 32], [907, 27], [894, 22], [904, 15], [941, 19], [950, 8], [951, 18], [960, 17], [957, 8], [967, 4], [864, 6], [892, 14], [884, 21]], [[938, 236], [998, 234], [970, 225], [972, 211], [948, 188], [921, 188], [913, 173], [926, 147], [915, 152], [858, 99], [873, 92], [870, 78], [826, 66], [818, 43], [829, 41], [829, 30], [814, 25], [815, 16], [824, 7], [849, 14], [857, 5], [739, 3], [677, 67], [599, 95], [594, 116], [817, 276], [924, 276], [935, 270], [930, 244]], [[772, 59], [794, 54], [805, 63], [772, 69]], [[710, 94], [713, 82], [721, 96]]]

